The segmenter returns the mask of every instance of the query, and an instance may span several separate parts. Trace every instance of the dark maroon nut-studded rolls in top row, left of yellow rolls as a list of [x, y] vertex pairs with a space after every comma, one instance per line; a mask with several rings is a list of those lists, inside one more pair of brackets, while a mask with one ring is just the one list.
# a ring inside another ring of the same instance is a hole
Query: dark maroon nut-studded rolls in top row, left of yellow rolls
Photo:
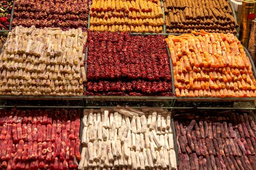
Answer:
[[16, 0], [13, 27], [60, 27], [86, 29], [87, 0]]

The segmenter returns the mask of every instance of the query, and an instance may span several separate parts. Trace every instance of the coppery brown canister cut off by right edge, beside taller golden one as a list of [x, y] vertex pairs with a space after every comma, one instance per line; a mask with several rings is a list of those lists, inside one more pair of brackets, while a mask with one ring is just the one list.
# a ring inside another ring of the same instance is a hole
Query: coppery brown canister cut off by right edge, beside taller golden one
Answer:
[[251, 35], [248, 45], [248, 51], [256, 64], [256, 19], [252, 22]]

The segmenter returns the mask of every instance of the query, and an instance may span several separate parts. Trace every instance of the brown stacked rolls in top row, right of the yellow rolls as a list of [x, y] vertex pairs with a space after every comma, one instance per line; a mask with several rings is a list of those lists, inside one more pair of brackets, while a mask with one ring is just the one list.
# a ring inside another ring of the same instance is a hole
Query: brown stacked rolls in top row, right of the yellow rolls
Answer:
[[236, 23], [227, 0], [163, 0], [166, 33], [236, 34]]

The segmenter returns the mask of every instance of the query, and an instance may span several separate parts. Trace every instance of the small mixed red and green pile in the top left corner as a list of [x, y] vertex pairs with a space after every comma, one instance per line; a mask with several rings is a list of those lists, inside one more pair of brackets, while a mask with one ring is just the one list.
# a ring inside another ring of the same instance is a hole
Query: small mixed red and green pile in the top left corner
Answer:
[[13, 0], [0, 1], [0, 30], [9, 30]]

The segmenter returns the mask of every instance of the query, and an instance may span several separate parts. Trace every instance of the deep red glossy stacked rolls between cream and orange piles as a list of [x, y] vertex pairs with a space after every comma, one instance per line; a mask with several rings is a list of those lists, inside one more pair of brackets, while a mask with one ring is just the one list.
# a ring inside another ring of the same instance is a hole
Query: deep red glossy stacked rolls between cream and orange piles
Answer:
[[85, 95], [172, 96], [164, 36], [88, 32]]

